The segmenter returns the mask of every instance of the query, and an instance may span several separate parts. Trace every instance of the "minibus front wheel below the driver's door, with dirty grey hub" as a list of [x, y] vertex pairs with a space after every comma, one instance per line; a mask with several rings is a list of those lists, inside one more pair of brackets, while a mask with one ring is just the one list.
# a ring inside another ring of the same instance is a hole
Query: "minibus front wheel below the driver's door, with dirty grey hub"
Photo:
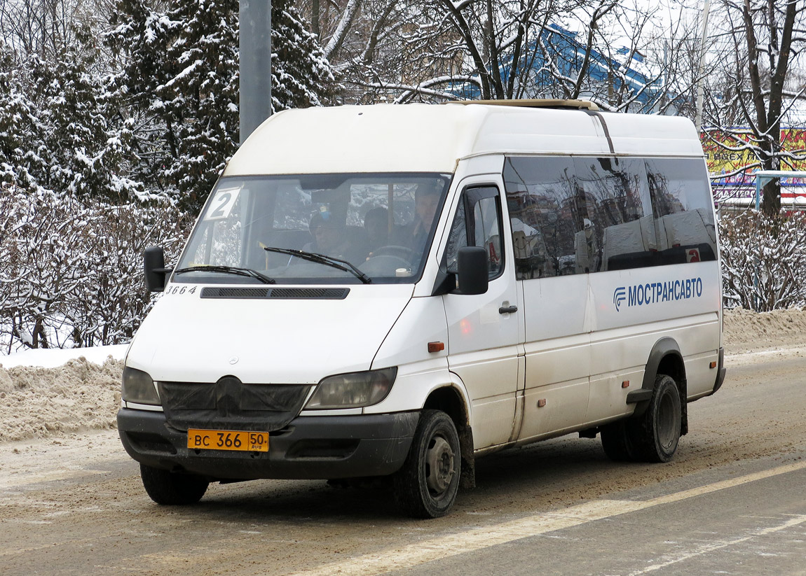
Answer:
[[403, 467], [393, 478], [395, 499], [415, 518], [444, 516], [459, 492], [459, 434], [440, 410], [423, 410]]

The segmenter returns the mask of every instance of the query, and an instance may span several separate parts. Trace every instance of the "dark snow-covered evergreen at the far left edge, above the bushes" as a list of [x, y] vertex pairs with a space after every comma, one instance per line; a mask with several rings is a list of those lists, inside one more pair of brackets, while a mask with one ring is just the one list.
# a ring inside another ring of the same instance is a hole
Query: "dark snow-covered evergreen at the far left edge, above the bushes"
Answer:
[[12, 66], [14, 56], [0, 47], [2, 179], [29, 191], [127, 200], [138, 188], [120, 174], [127, 130], [107, 121], [92, 43], [64, 47], [55, 60], [16, 56], [24, 68]]

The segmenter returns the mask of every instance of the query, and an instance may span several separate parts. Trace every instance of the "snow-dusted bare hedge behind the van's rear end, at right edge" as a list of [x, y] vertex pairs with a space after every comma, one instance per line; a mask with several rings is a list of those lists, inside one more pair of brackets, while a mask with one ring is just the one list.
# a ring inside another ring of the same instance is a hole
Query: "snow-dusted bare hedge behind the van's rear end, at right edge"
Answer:
[[806, 303], [806, 217], [748, 210], [719, 220], [725, 307], [767, 312]]

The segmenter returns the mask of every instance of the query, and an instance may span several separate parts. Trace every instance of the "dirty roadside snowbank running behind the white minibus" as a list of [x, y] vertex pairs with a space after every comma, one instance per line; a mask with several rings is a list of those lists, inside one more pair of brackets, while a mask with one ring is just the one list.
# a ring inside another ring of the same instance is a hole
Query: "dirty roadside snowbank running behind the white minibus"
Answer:
[[[114, 428], [126, 349], [0, 356], [0, 442]], [[729, 367], [770, 354], [806, 353], [806, 311], [726, 312], [725, 353]]]

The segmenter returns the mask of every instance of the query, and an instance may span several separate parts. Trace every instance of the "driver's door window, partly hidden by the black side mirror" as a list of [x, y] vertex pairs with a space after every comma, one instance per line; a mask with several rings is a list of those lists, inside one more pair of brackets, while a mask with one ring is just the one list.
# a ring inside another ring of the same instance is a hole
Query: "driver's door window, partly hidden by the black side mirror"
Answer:
[[445, 259], [447, 271], [455, 274], [456, 258], [463, 246], [482, 246], [487, 251], [489, 278], [497, 278], [504, 269], [501, 243], [501, 206], [495, 187], [467, 188], [459, 199]]

